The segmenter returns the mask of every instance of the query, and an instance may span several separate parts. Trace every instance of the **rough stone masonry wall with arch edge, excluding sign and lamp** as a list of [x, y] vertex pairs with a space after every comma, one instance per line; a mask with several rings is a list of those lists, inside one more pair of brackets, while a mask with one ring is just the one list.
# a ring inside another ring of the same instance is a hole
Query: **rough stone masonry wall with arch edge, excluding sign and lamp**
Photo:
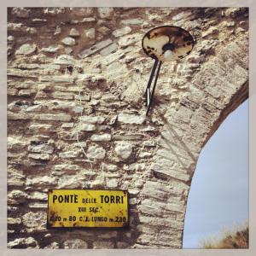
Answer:
[[[145, 32], [191, 54], [162, 65]], [[8, 9], [8, 247], [181, 248], [201, 148], [248, 96], [246, 8]], [[128, 230], [47, 230], [48, 189], [128, 189]]]

